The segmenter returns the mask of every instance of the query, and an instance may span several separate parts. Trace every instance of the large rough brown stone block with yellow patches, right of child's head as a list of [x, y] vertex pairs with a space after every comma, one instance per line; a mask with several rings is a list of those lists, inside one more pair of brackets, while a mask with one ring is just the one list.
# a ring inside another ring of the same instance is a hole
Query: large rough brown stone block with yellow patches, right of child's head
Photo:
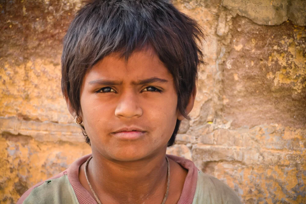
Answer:
[[[245, 29], [237, 32], [237, 28]], [[231, 35], [226, 61], [232, 63], [223, 72], [224, 98], [228, 100], [223, 113], [233, 121], [232, 128], [271, 123], [305, 128], [304, 27], [290, 22], [259, 26], [237, 17]]]

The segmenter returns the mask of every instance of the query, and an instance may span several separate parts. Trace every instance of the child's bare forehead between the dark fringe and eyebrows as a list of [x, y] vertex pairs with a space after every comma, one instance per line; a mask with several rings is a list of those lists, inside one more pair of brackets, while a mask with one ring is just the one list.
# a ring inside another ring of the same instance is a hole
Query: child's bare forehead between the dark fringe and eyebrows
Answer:
[[84, 81], [107, 78], [127, 82], [150, 77], [173, 79], [157, 54], [143, 49], [133, 52], [127, 61], [118, 53], [104, 57], [85, 74]]

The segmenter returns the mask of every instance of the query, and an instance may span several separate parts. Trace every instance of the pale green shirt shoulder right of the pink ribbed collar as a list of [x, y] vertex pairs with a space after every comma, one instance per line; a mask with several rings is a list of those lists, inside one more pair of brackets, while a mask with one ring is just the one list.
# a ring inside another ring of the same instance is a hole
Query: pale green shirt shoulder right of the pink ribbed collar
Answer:
[[228, 185], [198, 170], [196, 193], [193, 204], [197, 203], [240, 204], [241, 201], [233, 189]]

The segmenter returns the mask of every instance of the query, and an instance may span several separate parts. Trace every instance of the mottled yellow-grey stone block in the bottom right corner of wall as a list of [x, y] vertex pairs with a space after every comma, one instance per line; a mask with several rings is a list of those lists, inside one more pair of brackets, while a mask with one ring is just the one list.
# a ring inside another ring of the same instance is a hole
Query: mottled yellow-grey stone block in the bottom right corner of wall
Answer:
[[218, 163], [214, 173], [215, 177], [241, 196], [242, 203], [304, 203], [305, 187], [299, 182], [305, 178], [299, 175], [304, 175], [302, 167], [262, 164], [245, 166], [229, 162]]

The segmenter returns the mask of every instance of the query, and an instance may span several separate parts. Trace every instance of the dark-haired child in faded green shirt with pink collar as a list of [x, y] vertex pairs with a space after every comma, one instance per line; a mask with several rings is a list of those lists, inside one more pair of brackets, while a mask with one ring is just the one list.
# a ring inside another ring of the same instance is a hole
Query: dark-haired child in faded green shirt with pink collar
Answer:
[[192, 161], [166, 155], [189, 119], [202, 52], [167, 0], [95, 0], [65, 36], [62, 92], [92, 154], [18, 203], [240, 203]]

